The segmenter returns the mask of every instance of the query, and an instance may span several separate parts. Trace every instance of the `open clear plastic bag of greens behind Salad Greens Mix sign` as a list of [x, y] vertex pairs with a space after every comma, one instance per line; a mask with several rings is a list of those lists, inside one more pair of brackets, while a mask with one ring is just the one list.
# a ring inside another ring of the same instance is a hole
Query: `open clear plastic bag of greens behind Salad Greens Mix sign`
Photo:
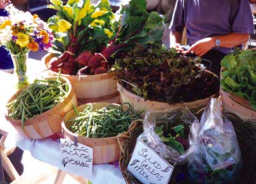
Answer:
[[[139, 136], [139, 139], [146, 142], [150, 148], [173, 166], [184, 164], [188, 161], [188, 157], [193, 150], [188, 141], [191, 137], [190, 127], [193, 124], [199, 125], [199, 121], [187, 107], [175, 107], [166, 111], [150, 111], [145, 115], [143, 121], [144, 132]], [[182, 125], [184, 128], [180, 127]], [[159, 133], [161, 136], [156, 131], [159, 127], [163, 128], [163, 131]], [[179, 135], [177, 132], [179, 132]], [[180, 134], [184, 134], [184, 136], [182, 137]], [[191, 139], [194, 139], [194, 137], [191, 137]], [[169, 145], [166, 144], [166, 140], [170, 141], [168, 142]], [[170, 144], [173, 146], [170, 146]]]

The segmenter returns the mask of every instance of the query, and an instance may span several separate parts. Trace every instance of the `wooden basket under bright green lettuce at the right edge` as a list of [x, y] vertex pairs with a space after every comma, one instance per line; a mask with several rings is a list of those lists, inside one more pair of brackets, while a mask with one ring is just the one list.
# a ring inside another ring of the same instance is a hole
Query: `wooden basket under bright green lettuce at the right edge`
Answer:
[[248, 100], [233, 93], [227, 93], [220, 88], [220, 96], [224, 112], [231, 112], [243, 119], [243, 121], [256, 120], [256, 111], [249, 104]]

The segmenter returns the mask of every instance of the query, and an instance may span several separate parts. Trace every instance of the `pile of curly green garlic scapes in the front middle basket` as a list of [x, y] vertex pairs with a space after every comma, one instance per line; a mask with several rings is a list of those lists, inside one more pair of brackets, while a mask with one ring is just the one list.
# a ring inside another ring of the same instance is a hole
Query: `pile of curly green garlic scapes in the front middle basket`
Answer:
[[[125, 109], [125, 111], [124, 111]], [[69, 119], [72, 121], [68, 129], [83, 137], [104, 138], [114, 137], [123, 134], [129, 129], [133, 120], [140, 119], [138, 115], [141, 112], [132, 111], [131, 104], [124, 103], [119, 107], [108, 105], [102, 109], [93, 109], [89, 104], [83, 112], [77, 112], [77, 118]]]

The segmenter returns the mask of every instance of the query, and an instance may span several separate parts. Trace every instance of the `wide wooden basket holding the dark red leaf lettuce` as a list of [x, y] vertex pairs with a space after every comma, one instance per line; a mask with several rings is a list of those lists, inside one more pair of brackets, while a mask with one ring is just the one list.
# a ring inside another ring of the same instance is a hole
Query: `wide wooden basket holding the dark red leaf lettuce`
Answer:
[[165, 109], [172, 109], [178, 106], [186, 106], [191, 109], [202, 109], [203, 107], [206, 107], [206, 105], [210, 102], [211, 98], [217, 96], [217, 94], [212, 95], [202, 100], [196, 100], [195, 102], [184, 102], [182, 104], [168, 104], [164, 102], [145, 100], [141, 96], [135, 95], [134, 93], [131, 93], [130, 91], [125, 89], [119, 82], [117, 82], [117, 90], [120, 92], [122, 103], [128, 102], [137, 112], [144, 111], [140, 115], [140, 118], [144, 118], [145, 114], [148, 111], [163, 111]]

